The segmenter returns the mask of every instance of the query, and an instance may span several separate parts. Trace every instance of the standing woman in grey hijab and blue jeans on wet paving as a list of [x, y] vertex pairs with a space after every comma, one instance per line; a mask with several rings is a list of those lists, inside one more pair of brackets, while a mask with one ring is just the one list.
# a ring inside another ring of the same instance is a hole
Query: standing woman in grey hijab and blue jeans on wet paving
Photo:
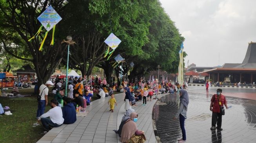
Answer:
[[187, 106], [189, 105], [189, 95], [185, 89], [180, 89], [180, 109], [174, 118], [180, 118], [180, 128], [182, 129], [182, 138], [178, 139], [179, 143], [186, 142], [186, 131], [184, 127], [187, 118]]

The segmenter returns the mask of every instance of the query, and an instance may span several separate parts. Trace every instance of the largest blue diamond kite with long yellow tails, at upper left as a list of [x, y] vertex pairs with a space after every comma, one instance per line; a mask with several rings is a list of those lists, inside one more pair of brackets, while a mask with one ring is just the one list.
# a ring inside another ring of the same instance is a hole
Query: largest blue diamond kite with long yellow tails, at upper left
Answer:
[[51, 45], [54, 45], [54, 32], [55, 32], [55, 26], [57, 23], [60, 22], [60, 20], [62, 20], [62, 18], [60, 17], [60, 15], [53, 9], [53, 7], [50, 5], [47, 9], [45, 9], [45, 11], [40, 14], [40, 16], [38, 16], [38, 21], [42, 24], [40, 26], [40, 28], [38, 29], [38, 31], [36, 32], [36, 34], [30, 38], [28, 41], [31, 41], [34, 38], [37, 38], [37, 36], [40, 34], [42, 27], [44, 27], [47, 31], [45, 32], [44, 35], [44, 39], [40, 45], [39, 50], [42, 51], [43, 49], [43, 45], [44, 45], [44, 41], [47, 37], [48, 32], [53, 29], [53, 38], [51, 41]]

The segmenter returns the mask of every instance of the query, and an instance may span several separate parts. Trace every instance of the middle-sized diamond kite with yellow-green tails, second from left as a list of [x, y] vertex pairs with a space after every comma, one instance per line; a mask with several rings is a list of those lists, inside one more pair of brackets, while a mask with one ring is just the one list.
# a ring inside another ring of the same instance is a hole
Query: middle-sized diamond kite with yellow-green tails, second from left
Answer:
[[[107, 54], [109, 54], [109, 57], [111, 57], [111, 55], [113, 54], [114, 50], [121, 43], [121, 40], [118, 39], [113, 33], [111, 33], [109, 35], [109, 37], [107, 37], [107, 39], [105, 39], [104, 42], [108, 45], [104, 57], [107, 57]], [[111, 52], [109, 52], [109, 47], [113, 49]], [[109, 57], [107, 58], [107, 60], [109, 59]]]

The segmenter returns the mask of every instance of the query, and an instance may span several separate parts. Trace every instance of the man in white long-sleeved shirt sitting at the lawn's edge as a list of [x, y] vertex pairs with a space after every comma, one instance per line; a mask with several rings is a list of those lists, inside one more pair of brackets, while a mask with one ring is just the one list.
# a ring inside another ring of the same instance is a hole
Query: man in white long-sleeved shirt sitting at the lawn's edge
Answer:
[[49, 132], [49, 126], [60, 127], [64, 122], [64, 118], [62, 117], [62, 109], [58, 106], [58, 101], [56, 99], [51, 100], [51, 107], [52, 109], [50, 109], [47, 113], [42, 114], [38, 118], [38, 123], [41, 121], [45, 128], [45, 131], [41, 132], [40, 134], [46, 134]]

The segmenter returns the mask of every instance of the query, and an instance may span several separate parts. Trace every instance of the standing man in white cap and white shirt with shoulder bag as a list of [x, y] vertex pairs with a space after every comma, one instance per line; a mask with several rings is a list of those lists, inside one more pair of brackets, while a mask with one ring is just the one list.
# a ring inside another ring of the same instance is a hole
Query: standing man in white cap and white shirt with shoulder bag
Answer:
[[36, 119], [38, 119], [42, 114], [44, 114], [45, 106], [48, 104], [48, 87], [53, 86], [53, 82], [51, 80], [48, 80], [45, 84], [42, 84], [39, 88], [39, 95], [41, 96], [41, 100], [38, 101], [38, 109], [36, 112]]

